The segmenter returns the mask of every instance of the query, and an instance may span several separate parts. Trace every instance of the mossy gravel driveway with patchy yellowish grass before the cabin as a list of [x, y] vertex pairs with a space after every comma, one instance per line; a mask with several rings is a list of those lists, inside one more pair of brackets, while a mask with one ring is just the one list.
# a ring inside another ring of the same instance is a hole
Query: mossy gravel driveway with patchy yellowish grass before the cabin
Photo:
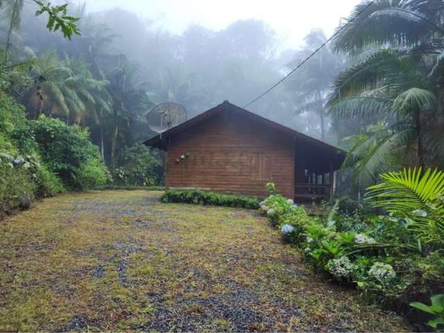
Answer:
[[0, 223], [0, 331], [401, 331], [256, 212], [67, 194]]

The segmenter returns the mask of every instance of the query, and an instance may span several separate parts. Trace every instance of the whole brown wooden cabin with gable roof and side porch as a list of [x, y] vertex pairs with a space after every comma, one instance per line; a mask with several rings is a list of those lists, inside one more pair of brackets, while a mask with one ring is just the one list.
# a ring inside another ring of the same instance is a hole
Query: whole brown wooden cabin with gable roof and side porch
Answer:
[[144, 144], [167, 152], [166, 185], [265, 197], [331, 200], [345, 153], [224, 101]]

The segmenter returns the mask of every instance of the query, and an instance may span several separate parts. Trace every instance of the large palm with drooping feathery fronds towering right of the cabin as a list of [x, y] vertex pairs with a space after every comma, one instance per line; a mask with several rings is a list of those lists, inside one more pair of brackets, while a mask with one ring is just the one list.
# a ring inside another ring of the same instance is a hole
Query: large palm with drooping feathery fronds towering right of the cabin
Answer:
[[330, 111], [348, 118], [377, 115], [384, 124], [351, 140], [344, 166], [355, 170], [362, 186], [399, 164], [444, 165], [443, 12], [442, 1], [379, 0], [336, 37], [336, 49], [364, 54], [364, 60], [337, 78]]

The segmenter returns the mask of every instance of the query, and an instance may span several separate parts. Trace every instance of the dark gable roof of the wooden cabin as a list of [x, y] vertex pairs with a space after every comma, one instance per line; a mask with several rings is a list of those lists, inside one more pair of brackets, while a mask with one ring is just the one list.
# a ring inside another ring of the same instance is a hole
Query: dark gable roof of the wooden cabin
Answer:
[[176, 133], [181, 132], [182, 130], [185, 130], [191, 126], [196, 125], [197, 123], [200, 123], [201, 121], [204, 121], [205, 119], [209, 119], [210, 117], [214, 116], [215, 114], [218, 114], [219, 112], [225, 112], [225, 111], [232, 111], [236, 112], [238, 114], [244, 115], [245, 117], [248, 117], [249, 119], [253, 121], [257, 121], [259, 123], [263, 123], [266, 126], [269, 126], [271, 128], [275, 128], [275, 130], [280, 131], [281, 133], [289, 135], [289, 137], [293, 139], [300, 140], [302, 142], [306, 142], [307, 144], [312, 144], [318, 148], [322, 148], [325, 151], [328, 151], [329, 153], [337, 154], [337, 155], [345, 155], [345, 151], [343, 151], [341, 148], [338, 148], [336, 146], [332, 146], [331, 144], [327, 144], [319, 139], [315, 139], [314, 137], [310, 137], [309, 135], [305, 135], [303, 133], [298, 132], [297, 130], [293, 130], [292, 128], [289, 128], [287, 126], [283, 126], [280, 123], [276, 123], [275, 121], [271, 121], [270, 119], [266, 119], [262, 116], [259, 116], [259, 114], [255, 114], [253, 112], [250, 112], [244, 108], [240, 108], [237, 105], [234, 105], [230, 103], [229, 101], [223, 101], [223, 103], [216, 105], [214, 108], [211, 108], [210, 110], [207, 110], [201, 114], [198, 114], [196, 117], [193, 117], [191, 119], [188, 119], [187, 121], [184, 121], [183, 123], [180, 123], [172, 128], [169, 128], [169, 130], [165, 130], [164, 132], [155, 135], [154, 137], [151, 137], [150, 139], [147, 139], [144, 141], [144, 144], [147, 146], [152, 146], [155, 148], [159, 148], [162, 150], [167, 149], [167, 138], [171, 135], [174, 135]]

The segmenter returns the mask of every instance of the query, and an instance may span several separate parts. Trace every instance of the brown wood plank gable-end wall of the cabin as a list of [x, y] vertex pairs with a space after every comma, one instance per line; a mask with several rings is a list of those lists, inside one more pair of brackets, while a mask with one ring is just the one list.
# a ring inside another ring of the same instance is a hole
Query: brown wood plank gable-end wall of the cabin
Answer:
[[167, 187], [266, 196], [266, 183], [274, 182], [278, 193], [293, 198], [294, 164], [291, 138], [221, 112], [169, 138]]

